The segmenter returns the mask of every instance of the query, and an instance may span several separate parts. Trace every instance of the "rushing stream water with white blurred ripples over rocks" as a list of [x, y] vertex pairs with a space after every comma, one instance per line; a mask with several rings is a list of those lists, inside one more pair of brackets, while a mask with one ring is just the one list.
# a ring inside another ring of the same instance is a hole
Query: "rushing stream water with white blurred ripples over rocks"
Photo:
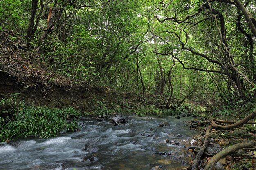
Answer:
[[[196, 133], [186, 125], [190, 119], [130, 117], [127, 124], [114, 126], [86, 118], [81, 132], [0, 146], [0, 170], [180, 170], [191, 161], [184, 147]], [[162, 121], [171, 126], [159, 127]]]

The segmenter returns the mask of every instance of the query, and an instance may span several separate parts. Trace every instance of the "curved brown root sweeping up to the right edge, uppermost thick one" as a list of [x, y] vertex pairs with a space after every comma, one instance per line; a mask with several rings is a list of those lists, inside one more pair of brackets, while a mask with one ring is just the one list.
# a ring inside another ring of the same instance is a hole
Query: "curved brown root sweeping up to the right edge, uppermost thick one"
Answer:
[[229, 130], [229, 129], [233, 129], [236, 128], [238, 126], [241, 126], [243, 124], [246, 124], [250, 119], [253, 119], [256, 116], [256, 111], [254, 111], [253, 113], [249, 114], [247, 117], [245, 117], [244, 119], [237, 121], [234, 124], [231, 125], [227, 125], [227, 126], [222, 126], [222, 125], [218, 125], [213, 121], [213, 118], [210, 118], [211, 121], [211, 125], [213, 126], [213, 128], [217, 128], [217, 129], [222, 129], [222, 130]]

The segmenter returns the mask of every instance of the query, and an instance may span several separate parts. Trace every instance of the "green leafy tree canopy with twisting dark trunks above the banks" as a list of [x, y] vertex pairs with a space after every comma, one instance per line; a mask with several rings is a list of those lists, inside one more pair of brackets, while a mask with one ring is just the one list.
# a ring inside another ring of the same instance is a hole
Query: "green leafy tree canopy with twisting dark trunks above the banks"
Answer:
[[255, 0], [3, 0], [0, 31], [74, 81], [228, 104], [256, 97], [255, 17]]

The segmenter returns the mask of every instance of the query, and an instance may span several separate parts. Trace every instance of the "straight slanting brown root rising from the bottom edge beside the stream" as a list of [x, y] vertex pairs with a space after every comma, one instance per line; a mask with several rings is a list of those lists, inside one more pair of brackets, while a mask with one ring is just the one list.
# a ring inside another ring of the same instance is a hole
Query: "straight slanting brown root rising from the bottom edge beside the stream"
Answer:
[[210, 131], [213, 127], [210, 125], [207, 127], [206, 132], [205, 132], [205, 139], [204, 139], [204, 144], [202, 148], [200, 148], [198, 154], [195, 155], [195, 159], [193, 160], [193, 163], [191, 165], [191, 170], [197, 170], [197, 163], [204, 154], [205, 148], [208, 146], [209, 140], [210, 140]]

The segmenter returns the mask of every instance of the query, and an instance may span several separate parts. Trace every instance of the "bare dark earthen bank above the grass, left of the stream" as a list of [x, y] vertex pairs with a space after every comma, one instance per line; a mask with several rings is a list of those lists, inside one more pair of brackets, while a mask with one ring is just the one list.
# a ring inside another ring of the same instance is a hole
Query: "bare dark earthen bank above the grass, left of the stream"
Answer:
[[114, 89], [102, 86], [84, 84], [22, 84], [8, 73], [0, 72], [0, 97], [10, 97], [10, 94], [18, 93], [18, 99], [26, 104], [34, 106], [49, 106], [61, 108], [72, 106], [82, 111], [95, 110], [98, 105], [104, 103], [107, 108], [135, 107], [148, 105], [161, 105], [161, 99], [154, 95], [146, 94], [147, 100], [142, 100], [133, 92], [118, 92]]

